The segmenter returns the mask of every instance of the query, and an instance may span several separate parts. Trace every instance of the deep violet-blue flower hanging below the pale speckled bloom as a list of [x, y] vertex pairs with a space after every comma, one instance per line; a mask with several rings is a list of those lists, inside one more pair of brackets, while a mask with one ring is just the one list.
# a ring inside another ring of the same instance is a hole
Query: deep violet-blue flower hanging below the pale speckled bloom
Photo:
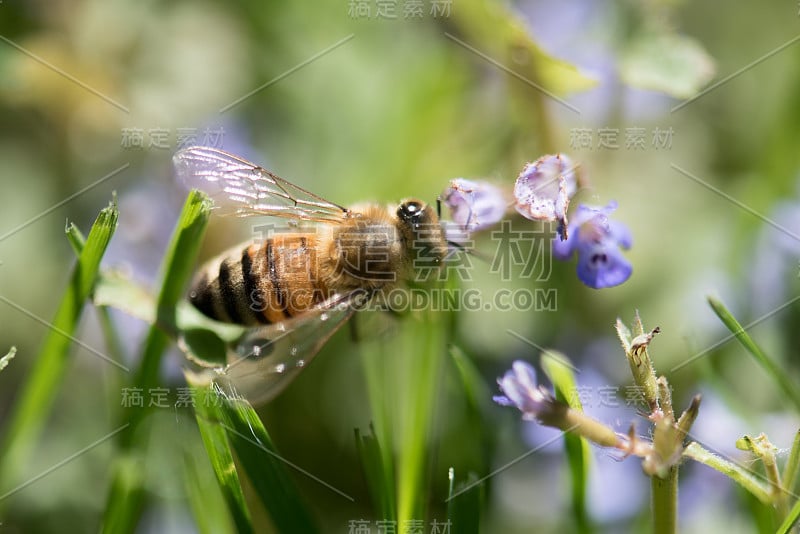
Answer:
[[566, 241], [553, 240], [553, 256], [568, 260], [578, 253], [578, 278], [589, 287], [601, 289], [617, 286], [630, 278], [633, 267], [620, 247], [631, 246], [628, 228], [608, 215], [617, 209], [612, 201], [602, 208], [580, 205], [569, 223]]

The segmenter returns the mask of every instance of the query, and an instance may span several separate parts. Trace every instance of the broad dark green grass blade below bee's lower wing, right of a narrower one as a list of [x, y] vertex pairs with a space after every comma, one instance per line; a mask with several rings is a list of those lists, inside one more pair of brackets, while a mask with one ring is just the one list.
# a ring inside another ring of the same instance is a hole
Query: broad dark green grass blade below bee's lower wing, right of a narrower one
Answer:
[[[264, 508], [279, 532], [317, 532], [307, 504], [301, 497], [287, 467], [292, 467], [307, 476], [313, 475], [284, 459], [267, 434], [264, 424], [247, 401], [228, 399], [220, 394], [214, 415], [227, 431], [228, 440], [236, 451], [242, 470], [247, 473]], [[324, 484], [323, 481], [315, 479]], [[327, 484], [324, 484], [327, 486]], [[343, 498], [352, 497], [336, 488], [331, 491]]]

